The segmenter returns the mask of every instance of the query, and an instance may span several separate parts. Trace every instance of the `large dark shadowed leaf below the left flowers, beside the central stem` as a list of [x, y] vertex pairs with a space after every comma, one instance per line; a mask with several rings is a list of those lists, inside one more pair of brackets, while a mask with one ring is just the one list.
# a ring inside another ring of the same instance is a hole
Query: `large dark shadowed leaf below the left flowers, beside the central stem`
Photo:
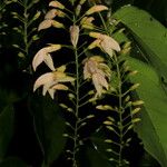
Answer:
[[65, 147], [65, 121], [60, 117], [58, 105], [49, 97], [31, 97], [31, 112], [35, 130], [45, 156], [43, 166], [58, 158]]

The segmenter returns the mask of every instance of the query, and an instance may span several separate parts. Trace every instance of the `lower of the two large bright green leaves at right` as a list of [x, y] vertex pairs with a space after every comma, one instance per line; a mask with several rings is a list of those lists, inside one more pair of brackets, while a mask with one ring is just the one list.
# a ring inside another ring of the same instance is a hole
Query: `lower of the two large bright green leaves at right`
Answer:
[[140, 111], [141, 121], [136, 124], [136, 130], [143, 139], [147, 151], [161, 165], [167, 166], [167, 95], [165, 94], [158, 75], [147, 63], [128, 58], [132, 69], [139, 71], [131, 77], [132, 82], [140, 82], [137, 96], [145, 101]]

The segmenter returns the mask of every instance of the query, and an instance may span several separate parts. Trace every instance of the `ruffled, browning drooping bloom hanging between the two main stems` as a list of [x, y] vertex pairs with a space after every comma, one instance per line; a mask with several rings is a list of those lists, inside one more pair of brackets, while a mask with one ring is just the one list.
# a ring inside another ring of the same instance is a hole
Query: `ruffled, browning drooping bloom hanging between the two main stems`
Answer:
[[84, 60], [84, 79], [92, 79], [96, 88], [96, 96], [101, 96], [102, 88], [108, 90], [109, 86], [106, 78], [110, 78], [110, 69], [104, 63], [105, 59], [100, 56], [94, 56]]

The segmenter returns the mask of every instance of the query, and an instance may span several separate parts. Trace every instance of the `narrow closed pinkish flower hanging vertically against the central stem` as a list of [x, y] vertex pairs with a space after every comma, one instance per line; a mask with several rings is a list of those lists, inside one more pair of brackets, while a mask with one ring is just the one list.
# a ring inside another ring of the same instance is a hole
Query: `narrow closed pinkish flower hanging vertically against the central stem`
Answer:
[[76, 48], [79, 39], [79, 27], [73, 24], [70, 27], [70, 40], [72, 46]]

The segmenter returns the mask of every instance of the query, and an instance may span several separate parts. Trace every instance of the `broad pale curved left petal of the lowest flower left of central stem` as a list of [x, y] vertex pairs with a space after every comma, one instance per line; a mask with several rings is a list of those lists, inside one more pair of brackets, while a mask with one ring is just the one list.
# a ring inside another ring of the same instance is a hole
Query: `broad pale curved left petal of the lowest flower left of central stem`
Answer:
[[48, 87], [48, 84], [51, 85], [53, 81], [55, 81], [53, 73], [47, 72], [47, 73], [40, 76], [36, 80], [36, 82], [33, 85], [33, 91], [36, 91], [36, 89], [38, 89], [39, 87], [45, 86], [45, 85]]

